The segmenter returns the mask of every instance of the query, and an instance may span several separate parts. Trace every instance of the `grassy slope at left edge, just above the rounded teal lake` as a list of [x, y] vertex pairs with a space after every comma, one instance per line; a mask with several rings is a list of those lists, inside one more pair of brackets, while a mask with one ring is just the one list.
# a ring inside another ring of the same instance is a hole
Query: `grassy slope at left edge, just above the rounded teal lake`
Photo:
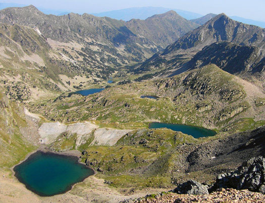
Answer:
[[36, 147], [21, 134], [20, 127], [27, 126], [24, 109], [12, 103], [0, 92], [0, 165], [10, 168]]

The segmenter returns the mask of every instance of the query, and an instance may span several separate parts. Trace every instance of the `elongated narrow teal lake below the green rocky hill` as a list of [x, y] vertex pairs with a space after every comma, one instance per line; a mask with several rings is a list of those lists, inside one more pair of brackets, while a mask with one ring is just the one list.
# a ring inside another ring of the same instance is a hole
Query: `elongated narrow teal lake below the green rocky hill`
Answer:
[[193, 138], [203, 138], [209, 136], [215, 136], [217, 134], [216, 131], [206, 129], [203, 127], [196, 127], [192, 125], [183, 125], [183, 124], [173, 124], [173, 123], [160, 123], [160, 122], [152, 122], [149, 124], [149, 128], [169, 128], [174, 131], [181, 131], [185, 134], [189, 134]]

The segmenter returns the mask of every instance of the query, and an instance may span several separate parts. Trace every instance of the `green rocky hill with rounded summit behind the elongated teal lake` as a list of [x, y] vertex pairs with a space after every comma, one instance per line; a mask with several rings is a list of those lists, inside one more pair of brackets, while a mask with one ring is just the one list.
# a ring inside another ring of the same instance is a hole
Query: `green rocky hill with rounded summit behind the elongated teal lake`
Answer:
[[172, 78], [118, 85], [88, 97], [65, 94], [28, 107], [51, 121], [98, 120], [120, 129], [160, 121], [235, 132], [243, 130], [243, 123], [250, 129], [262, 125], [264, 98], [253, 84], [208, 65]]

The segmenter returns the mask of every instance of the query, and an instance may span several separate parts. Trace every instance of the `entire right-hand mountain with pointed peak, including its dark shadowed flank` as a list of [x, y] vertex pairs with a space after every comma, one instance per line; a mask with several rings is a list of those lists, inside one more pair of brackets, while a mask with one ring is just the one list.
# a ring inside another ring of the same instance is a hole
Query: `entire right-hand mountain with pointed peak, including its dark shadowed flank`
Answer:
[[264, 49], [265, 29], [220, 14], [132, 70], [150, 78], [214, 63], [264, 89]]

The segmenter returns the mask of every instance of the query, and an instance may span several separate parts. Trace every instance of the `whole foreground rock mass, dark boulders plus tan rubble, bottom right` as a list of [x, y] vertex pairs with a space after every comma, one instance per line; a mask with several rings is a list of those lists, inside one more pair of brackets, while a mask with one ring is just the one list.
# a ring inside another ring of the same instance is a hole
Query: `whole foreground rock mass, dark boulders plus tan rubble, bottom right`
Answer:
[[[208, 190], [207, 185], [202, 185], [194, 180], [189, 180], [179, 184], [171, 192], [164, 192], [157, 195], [147, 195], [146, 198], [131, 199], [132, 202], [262, 202], [265, 198], [264, 191], [264, 174], [265, 158], [259, 156], [251, 158], [229, 174], [220, 174], [217, 182]], [[225, 188], [236, 188], [225, 189]], [[242, 190], [247, 189], [247, 190]], [[253, 193], [250, 191], [258, 191]], [[214, 191], [214, 192], [213, 192]], [[188, 194], [176, 195], [179, 194]], [[196, 195], [196, 196], [195, 196]]]

